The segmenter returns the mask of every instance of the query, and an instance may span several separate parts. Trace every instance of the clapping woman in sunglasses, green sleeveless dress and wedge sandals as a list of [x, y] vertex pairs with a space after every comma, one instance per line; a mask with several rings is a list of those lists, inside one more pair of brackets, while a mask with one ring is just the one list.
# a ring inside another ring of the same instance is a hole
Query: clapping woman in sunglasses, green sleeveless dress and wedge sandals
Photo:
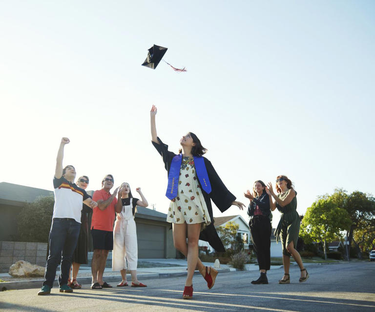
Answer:
[[291, 256], [297, 262], [301, 270], [299, 282], [305, 282], [309, 278], [309, 273], [302, 263], [299, 252], [295, 249], [298, 241], [299, 226], [301, 219], [297, 212], [297, 192], [293, 189], [292, 181], [285, 175], [276, 178], [277, 195], [273, 192], [271, 182], [267, 188], [271, 196], [275, 199], [277, 210], [281, 212], [279, 224], [275, 230], [276, 242], [281, 240], [283, 250], [284, 276], [279, 280], [279, 284], [289, 284], [291, 282], [289, 268], [291, 266]]

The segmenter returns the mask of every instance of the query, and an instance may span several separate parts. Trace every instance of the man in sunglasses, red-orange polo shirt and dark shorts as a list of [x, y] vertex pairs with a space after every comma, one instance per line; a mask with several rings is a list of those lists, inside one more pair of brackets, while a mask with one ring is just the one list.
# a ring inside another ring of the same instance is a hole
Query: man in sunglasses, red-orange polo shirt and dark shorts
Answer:
[[96, 190], [92, 196], [98, 203], [93, 209], [91, 221], [91, 234], [94, 253], [91, 262], [92, 284], [91, 289], [111, 288], [103, 281], [105, 262], [109, 250], [113, 249], [113, 222], [115, 220], [115, 205], [117, 203], [117, 191], [109, 193], [113, 187], [113, 175], [107, 174], [102, 181], [102, 189]]

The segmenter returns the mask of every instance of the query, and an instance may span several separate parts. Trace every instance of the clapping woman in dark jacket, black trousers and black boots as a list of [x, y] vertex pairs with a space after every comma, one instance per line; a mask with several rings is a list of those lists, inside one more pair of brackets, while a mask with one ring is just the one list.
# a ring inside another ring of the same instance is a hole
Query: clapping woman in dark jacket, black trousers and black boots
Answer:
[[271, 211], [276, 209], [272, 202], [271, 193], [266, 189], [263, 181], [257, 180], [250, 190], [244, 194], [250, 199], [248, 215], [250, 217], [249, 227], [251, 240], [258, 259], [260, 276], [251, 284], [268, 284], [267, 271], [271, 267]]

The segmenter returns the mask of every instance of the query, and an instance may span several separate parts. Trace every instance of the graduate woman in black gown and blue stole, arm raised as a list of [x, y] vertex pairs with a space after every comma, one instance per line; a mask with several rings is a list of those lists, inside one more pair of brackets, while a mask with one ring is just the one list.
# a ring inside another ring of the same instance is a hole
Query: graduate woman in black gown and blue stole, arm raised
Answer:
[[174, 247], [187, 257], [187, 279], [183, 298], [191, 299], [195, 268], [198, 268], [207, 281], [208, 289], [214, 285], [217, 275], [216, 270], [205, 267], [199, 260], [198, 240], [208, 241], [216, 251], [225, 251], [213, 226], [211, 199], [222, 212], [231, 205], [240, 209], [245, 205], [235, 201], [235, 196], [225, 187], [211, 163], [202, 157], [206, 148], [194, 133], [188, 132], [181, 138], [182, 150], [179, 154], [168, 151], [168, 146], [157, 136], [156, 113], [157, 109], [152, 105], [152, 144], [163, 157], [168, 172], [166, 196], [170, 199], [170, 204], [167, 222], [172, 223]]

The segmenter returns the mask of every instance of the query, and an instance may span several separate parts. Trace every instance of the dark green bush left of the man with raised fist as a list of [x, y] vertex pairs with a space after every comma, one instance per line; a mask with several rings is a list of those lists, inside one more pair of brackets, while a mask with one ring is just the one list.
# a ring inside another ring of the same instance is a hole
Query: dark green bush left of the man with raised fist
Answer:
[[38, 197], [33, 203], [25, 203], [18, 217], [19, 241], [48, 242], [54, 203], [53, 196]]

